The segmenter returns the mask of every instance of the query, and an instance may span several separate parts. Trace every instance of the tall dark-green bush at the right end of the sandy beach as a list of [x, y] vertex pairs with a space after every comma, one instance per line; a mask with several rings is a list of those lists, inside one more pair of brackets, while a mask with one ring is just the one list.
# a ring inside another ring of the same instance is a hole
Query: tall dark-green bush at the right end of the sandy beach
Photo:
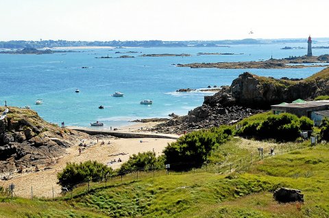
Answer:
[[170, 163], [174, 170], [200, 167], [207, 161], [210, 152], [231, 135], [233, 131], [229, 126], [188, 133], [164, 148], [166, 163]]

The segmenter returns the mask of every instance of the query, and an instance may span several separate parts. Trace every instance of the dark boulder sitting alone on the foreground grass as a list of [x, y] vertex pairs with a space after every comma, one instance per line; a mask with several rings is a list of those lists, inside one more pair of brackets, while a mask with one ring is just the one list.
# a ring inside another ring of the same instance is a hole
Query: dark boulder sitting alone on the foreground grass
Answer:
[[298, 189], [279, 188], [273, 193], [273, 197], [277, 202], [304, 202], [304, 195]]

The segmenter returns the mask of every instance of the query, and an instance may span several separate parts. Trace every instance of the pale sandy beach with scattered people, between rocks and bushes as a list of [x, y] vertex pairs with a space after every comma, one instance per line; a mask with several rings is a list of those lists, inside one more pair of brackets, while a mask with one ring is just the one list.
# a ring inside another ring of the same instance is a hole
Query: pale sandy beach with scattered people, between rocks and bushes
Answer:
[[[136, 123], [120, 129], [127, 132], [141, 132], [141, 128], [146, 130], [153, 125], [154, 123]], [[92, 160], [117, 169], [132, 154], [153, 150], [157, 155], [162, 154], [162, 150], [172, 141], [175, 141], [175, 139], [123, 139], [105, 136], [99, 138], [97, 143], [97, 137], [90, 136], [89, 139], [84, 141], [87, 146], [82, 148], [81, 155], [79, 154], [80, 147], [76, 144], [71, 148], [66, 148], [66, 154], [60, 157], [56, 161], [57, 163], [49, 166], [39, 166], [39, 172], [34, 172], [34, 169], [27, 169], [32, 170], [32, 172], [25, 172], [26, 169], [23, 169], [23, 174], [14, 173], [10, 180], [1, 180], [0, 186], [6, 188], [13, 183], [15, 185], [14, 194], [19, 197], [31, 197], [32, 190], [34, 197], [52, 197], [53, 193], [56, 197], [61, 192], [60, 185], [56, 184], [58, 182], [57, 174], [62, 171], [67, 162], [80, 163]], [[122, 160], [121, 163], [117, 162], [119, 158]], [[115, 162], [113, 162], [114, 160]]]

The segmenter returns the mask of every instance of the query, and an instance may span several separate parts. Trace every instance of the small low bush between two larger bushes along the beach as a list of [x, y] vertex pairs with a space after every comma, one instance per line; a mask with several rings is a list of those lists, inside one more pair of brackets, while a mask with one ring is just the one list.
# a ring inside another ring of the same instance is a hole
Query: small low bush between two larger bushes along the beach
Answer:
[[123, 163], [119, 169], [119, 174], [126, 174], [134, 170], [149, 171], [153, 169], [161, 169], [164, 165], [164, 156], [156, 158], [154, 152], [143, 152], [132, 154], [129, 160]]

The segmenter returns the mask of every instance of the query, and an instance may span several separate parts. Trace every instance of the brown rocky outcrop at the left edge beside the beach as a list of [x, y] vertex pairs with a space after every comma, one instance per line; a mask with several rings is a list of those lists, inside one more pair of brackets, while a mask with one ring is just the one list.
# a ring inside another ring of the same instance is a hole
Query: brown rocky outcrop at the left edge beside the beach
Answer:
[[[5, 107], [0, 107], [0, 111]], [[88, 135], [60, 128], [42, 120], [35, 111], [9, 107], [0, 120], [0, 174], [17, 167], [53, 162]]]

